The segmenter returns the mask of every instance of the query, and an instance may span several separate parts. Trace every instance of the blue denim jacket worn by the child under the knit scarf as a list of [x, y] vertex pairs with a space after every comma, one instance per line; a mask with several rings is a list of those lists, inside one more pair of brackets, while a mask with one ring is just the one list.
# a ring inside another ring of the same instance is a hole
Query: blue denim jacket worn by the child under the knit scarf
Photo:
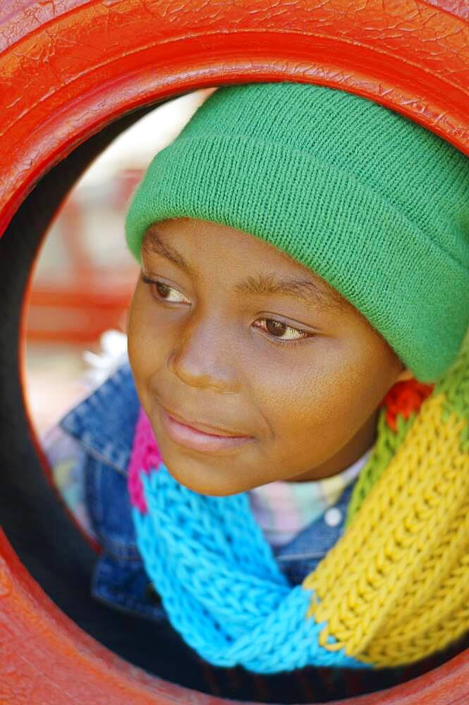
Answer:
[[[167, 620], [145, 572], [130, 513], [127, 472], [140, 401], [128, 362], [68, 412], [59, 427], [81, 446], [85, 498], [92, 531], [102, 547], [92, 575], [92, 595], [114, 608], [150, 620]], [[334, 511], [313, 521], [288, 544], [272, 549], [291, 584], [299, 584], [343, 533], [346, 508], [356, 482], [343, 491]], [[330, 514], [329, 514], [330, 517]], [[340, 519], [340, 521], [339, 521]]]

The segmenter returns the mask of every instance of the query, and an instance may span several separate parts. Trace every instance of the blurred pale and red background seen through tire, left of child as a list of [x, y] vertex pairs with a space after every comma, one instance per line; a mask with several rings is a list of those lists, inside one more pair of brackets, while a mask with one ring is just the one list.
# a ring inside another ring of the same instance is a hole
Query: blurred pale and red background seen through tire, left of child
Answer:
[[26, 302], [25, 388], [39, 437], [126, 357], [138, 264], [126, 248], [130, 196], [216, 88], [158, 106], [122, 133], [75, 184], [51, 223]]

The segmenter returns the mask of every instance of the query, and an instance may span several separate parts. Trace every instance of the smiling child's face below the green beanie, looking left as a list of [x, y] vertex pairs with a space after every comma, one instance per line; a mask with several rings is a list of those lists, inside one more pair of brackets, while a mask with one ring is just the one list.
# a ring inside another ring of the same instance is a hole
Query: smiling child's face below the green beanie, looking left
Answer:
[[309, 269], [185, 218], [145, 235], [128, 353], [169, 472], [216, 496], [344, 470], [372, 446], [386, 392], [411, 376]]

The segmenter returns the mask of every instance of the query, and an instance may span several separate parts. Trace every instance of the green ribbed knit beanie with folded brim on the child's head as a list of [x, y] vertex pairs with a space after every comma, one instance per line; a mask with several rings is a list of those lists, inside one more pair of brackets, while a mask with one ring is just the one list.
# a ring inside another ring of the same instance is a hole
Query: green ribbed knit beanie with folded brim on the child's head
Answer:
[[294, 82], [221, 87], [152, 160], [126, 217], [252, 233], [322, 276], [422, 382], [469, 325], [469, 159], [363, 97]]

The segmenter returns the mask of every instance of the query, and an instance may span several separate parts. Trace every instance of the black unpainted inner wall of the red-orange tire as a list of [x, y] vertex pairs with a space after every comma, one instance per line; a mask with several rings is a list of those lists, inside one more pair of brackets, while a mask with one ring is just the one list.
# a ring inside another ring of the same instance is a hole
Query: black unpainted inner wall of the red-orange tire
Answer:
[[[4, 345], [0, 352], [0, 374], [4, 403], [0, 414], [4, 429], [1, 450], [4, 477], [0, 523], [32, 577], [85, 632], [149, 673], [200, 689], [190, 668], [190, 664], [199, 659], [171, 629], [157, 642], [154, 623], [137, 614], [120, 613], [90, 596], [90, 576], [96, 553], [63, 512], [59, 498], [43, 472], [25, 410], [20, 369], [22, 341], [19, 321], [25, 290], [37, 251], [56, 209], [84, 169], [114, 137], [153, 108], [133, 111], [111, 123], [52, 168], [23, 202], [1, 238]], [[441, 654], [436, 665], [468, 647], [469, 635]], [[172, 657], [176, 650], [183, 656], [180, 661]], [[425, 663], [409, 667], [406, 681], [430, 668], [435, 668], [434, 661], [427, 668]], [[320, 678], [317, 678], [319, 672]], [[396, 680], [390, 671], [370, 673], [366, 677], [356, 675], [354, 692], [350, 692], [341, 682], [340, 673], [326, 673], [326, 669], [250, 678], [241, 668], [208, 668], [205, 692], [238, 700], [308, 703], [376, 692], [398, 682], [403, 681]]]

